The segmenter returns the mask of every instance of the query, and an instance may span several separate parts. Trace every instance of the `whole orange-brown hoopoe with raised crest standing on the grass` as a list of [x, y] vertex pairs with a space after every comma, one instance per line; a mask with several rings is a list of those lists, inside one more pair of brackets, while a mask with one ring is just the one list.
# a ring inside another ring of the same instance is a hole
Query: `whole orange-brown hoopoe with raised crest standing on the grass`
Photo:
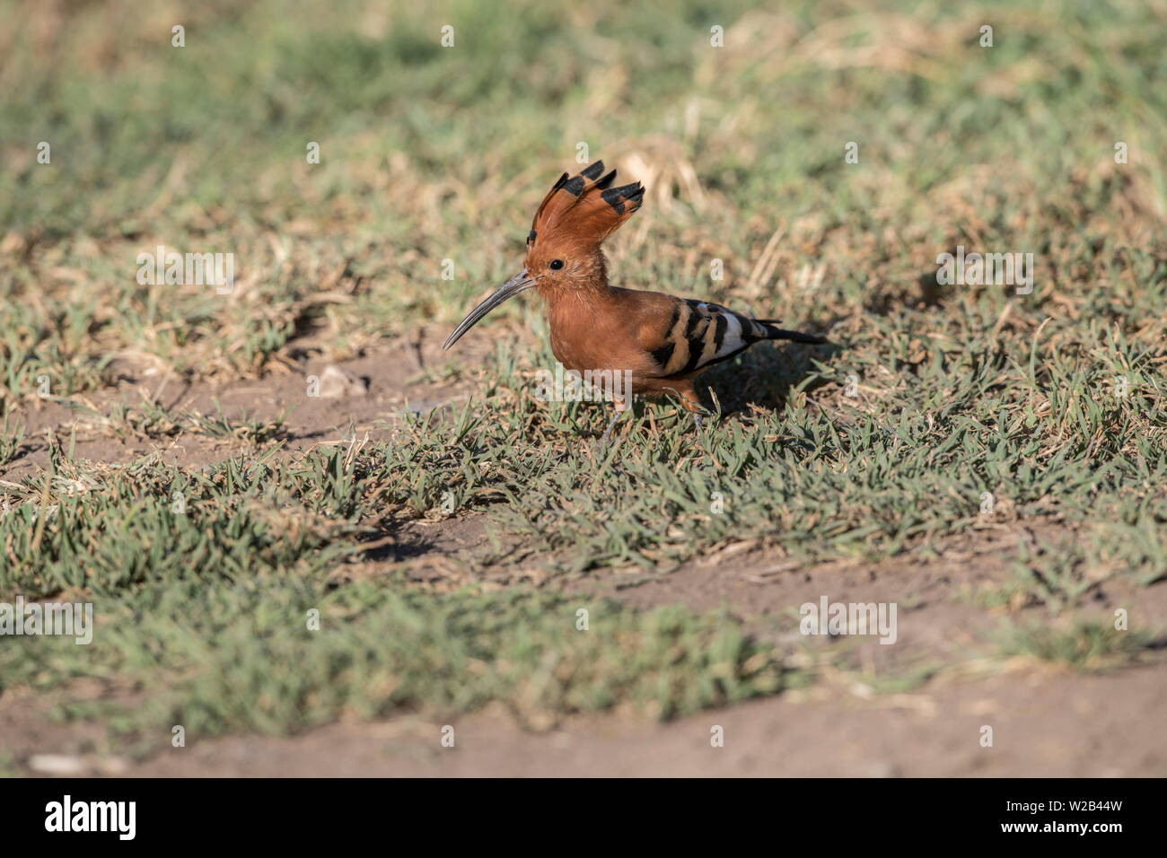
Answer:
[[[824, 343], [820, 336], [783, 330], [776, 319], [750, 319], [710, 301], [612, 286], [600, 245], [644, 201], [640, 182], [613, 187], [616, 170], [596, 161], [544, 197], [526, 237], [523, 270], [470, 311], [446, 340], [448, 349], [490, 311], [530, 288], [544, 300], [551, 350], [565, 369], [593, 376], [627, 372], [631, 393], [673, 395], [693, 414], [705, 410], [693, 378], [762, 340]], [[600, 377], [613, 377], [600, 376]], [[607, 444], [616, 413], [601, 439]]]

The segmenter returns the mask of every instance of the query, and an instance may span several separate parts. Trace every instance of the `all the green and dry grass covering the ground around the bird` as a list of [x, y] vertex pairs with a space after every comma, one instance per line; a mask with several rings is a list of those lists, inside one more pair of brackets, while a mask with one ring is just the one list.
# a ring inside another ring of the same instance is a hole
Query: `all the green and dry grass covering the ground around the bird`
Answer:
[[[797, 677], [720, 613], [588, 598], [593, 628], [575, 632], [562, 584], [742, 542], [808, 564], [929, 558], [1021, 525], [1053, 536], [1006, 550], [1012, 578], [974, 605], [1072, 620], [1096, 586], [1167, 577], [1154, 6], [216, 1], [182, 21], [18, 6], [0, 33], [0, 598], [91, 599], [100, 626], [90, 648], [0, 648], [0, 692], [60, 692], [62, 714], [147, 746], [173, 723], [289, 732], [490, 702], [532, 726], [672, 717]], [[126, 374], [256, 385], [441, 339], [519, 267], [580, 141], [649, 189], [607, 245], [615, 282], [831, 344], [755, 347], [701, 378], [721, 412], [704, 432], [638, 404], [606, 451], [605, 409], [536, 399], [553, 356], [524, 300], [412, 379], [470, 398], [400, 414], [387, 440], [291, 454], [282, 417], [109, 396]], [[235, 292], [139, 285], [159, 244], [235, 253]], [[1033, 293], [939, 285], [956, 245], [1034, 253]], [[202, 435], [224, 460], [88, 462], [61, 430], [48, 467], [8, 479], [36, 446], [42, 376], [92, 432]], [[491, 537], [454, 558], [469, 584], [436, 593], [369, 556], [446, 496]], [[338, 574], [356, 567], [375, 571]], [[531, 567], [544, 591], [480, 584]], [[1130, 640], [1047, 625], [999, 649], [1095, 664]], [[935, 667], [920, 663], [865, 682], [914, 688]], [[114, 702], [72, 699], [82, 677]]]

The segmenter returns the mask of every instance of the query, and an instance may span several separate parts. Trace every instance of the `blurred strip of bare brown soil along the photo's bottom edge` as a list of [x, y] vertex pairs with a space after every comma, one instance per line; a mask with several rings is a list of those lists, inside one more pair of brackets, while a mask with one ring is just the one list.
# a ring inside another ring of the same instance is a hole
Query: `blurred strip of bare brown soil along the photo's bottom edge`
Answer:
[[[1162, 776], [1165, 711], [1163, 664], [1097, 676], [1025, 668], [890, 696], [829, 685], [668, 724], [605, 716], [533, 733], [483, 713], [450, 725], [452, 748], [443, 724], [403, 717], [285, 739], [188, 737], [140, 763], [69, 759], [89, 774], [162, 777]], [[61, 753], [54, 734], [77, 742], [72, 727], [21, 727], [0, 709], [4, 744], [29, 774], [34, 753]], [[711, 741], [715, 727], [724, 747]]]

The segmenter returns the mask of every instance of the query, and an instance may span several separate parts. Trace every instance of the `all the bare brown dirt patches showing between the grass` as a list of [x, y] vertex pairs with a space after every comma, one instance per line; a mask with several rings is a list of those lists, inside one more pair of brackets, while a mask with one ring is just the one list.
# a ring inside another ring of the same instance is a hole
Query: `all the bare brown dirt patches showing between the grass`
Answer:
[[[223, 410], [286, 418], [289, 451], [336, 442], [351, 418], [370, 440], [391, 432], [396, 414], [426, 410], [467, 396], [467, 389], [418, 382], [426, 367], [440, 365], [435, 337], [420, 348], [398, 342], [341, 364], [368, 379], [368, 392], [340, 399], [309, 399], [303, 377], [323, 362], [308, 361], [261, 382], [218, 386], [184, 385], [175, 379], [139, 378], [125, 368], [117, 389], [93, 399], [99, 410], [144, 391], [173, 410]], [[238, 446], [184, 433], [162, 442], [111, 438], [91, 419], [55, 402], [16, 411], [28, 426], [25, 455], [0, 479], [18, 481], [47, 462], [44, 431], [68, 438], [77, 425], [77, 455], [121, 462], [160, 449], [180, 465], [202, 465], [239, 452]], [[417, 580], [450, 586], [464, 580], [459, 556], [487, 544], [485, 516], [442, 522], [415, 521], [371, 544], [363, 563], [338, 570], [341, 577], [377, 574], [405, 560]], [[899, 602], [900, 646], [872, 639], [848, 650], [844, 669], [824, 671], [805, 691], [727, 710], [657, 724], [613, 713], [572, 718], [552, 728], [522, 728], [506, 712], [488, 710], [460, 718], [456, 744], [440, 744], [442, 725], [417, 716], [379, 724], [340, 723], [291, 738], [230, 737], [198, 740], [134, 762], [95, 755], [99, 725], [57, 724], [47, 718], [51, 702], [0, 698], [0, 751], [18, 770], [32, 773], [34, 754], [74, 754], [88, 774], [146, 776], [250, 775], [435, 775], [435, 776], [599, 776], [599, 775], [1048, 775], [1162, 776], [1167, 774], [1167, 661], [1099, 675], [1074, 674], [1025, 660], [984, 660], [981, 649], [998, 618], [976, 607], [970, 595], [981, 585], [1012, 576], [1023, 526], [995, 524], [939, 547], [938, 556], [897, 558], [880, 564], [826, 563], [799, 567], [757, 545], [731, 545], [668, 574], [601, 572], [566, 581], [581, 598], [606, 595], [638, 607], [682, 602], [694, 609], [725, 606], [757, 635], [798, 643], [797, 606], [826, 593], [832, 601]], [[1047, 536], [1041, 533], [1041, 536]], [[539, 580], [538, 576], [533, 576]], [[498, 585], [515, 580], [501, 576]], [[907, 598], [904, 594], [909, 594]], [[1088, 597], [1089, 611], [1110, 615], [1130, 607], [1139, 622], [1167, 627], [1167, 583], [1130, 590], [1100, 583]], [[1037, 609], [1022, 614], [1036, 615]], [[1023, 619], [1023, 618], [1022, 618]], [[802, 639], [813, 657], [827, 647], [850, 646]], [[906, 690], [876, 690], [862, 677], [895, 664], [899, 675], [930, 661], [949, 665]], [[850, 665], [850, 667], [847, 667]], [[955, 667], [953, 667], [955, 665]], [[853, 669], [852, 669], [853, 668]], [[725, 731], [725, 747], [712, 747], [711, 728]], [[993, 747], [979, 744], [983, 725], [993, 727]]]

